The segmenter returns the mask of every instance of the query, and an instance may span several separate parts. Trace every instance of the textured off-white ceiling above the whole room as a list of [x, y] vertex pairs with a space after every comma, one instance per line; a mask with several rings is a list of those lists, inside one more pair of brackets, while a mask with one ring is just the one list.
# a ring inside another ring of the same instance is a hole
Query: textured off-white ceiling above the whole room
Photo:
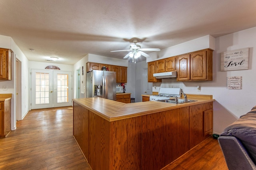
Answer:
[[30, 61], [53, 56], [61, 64], [88, 53], [122, 59], [127, 51], [110, 51], [129, 49], [134, 37], [142, 48], [165, 49], [256, 26], [256, 0], [0, 0], [0, 6], [0, 35], [12, 37]]

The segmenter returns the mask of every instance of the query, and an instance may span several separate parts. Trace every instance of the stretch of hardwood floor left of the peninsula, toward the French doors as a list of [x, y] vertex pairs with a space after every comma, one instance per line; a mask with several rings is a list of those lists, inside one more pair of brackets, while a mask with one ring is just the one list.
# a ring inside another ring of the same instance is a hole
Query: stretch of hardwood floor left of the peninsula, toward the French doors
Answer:
[[73, 109], [29, 111], [0, 139], [1, 170], [90, 170], [73, 138]]

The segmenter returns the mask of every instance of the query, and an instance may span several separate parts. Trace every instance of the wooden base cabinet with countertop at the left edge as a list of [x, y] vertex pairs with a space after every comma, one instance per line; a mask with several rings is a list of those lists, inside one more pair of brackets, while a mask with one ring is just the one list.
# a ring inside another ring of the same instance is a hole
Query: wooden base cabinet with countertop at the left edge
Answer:
[[[12, 94], [3, 94], [0, 96], [0, 138], [6, 137], [11, 131], [11, 98]], [[7, 99], [5, 99], [7, 98]]]

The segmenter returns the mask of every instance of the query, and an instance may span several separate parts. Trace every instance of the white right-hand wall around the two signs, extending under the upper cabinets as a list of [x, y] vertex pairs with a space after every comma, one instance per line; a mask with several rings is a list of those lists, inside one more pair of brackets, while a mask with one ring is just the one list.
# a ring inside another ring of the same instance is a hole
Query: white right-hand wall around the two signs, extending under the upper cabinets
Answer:
[[[153, 83], [153, 86], [182, 88], [188, 94], [210, 94], [214, 102], [213, 131], [221, 133], [225, 127], [247, 113], [255, 103], [256, 84], [256, 27], [218, 37], [215, 39], [213, 51], [213, 80], [196, 82], [177, 82], [176, 78], [162, 79], [162, 83]], [[187, 47], [187, 45], [186, 45]], [[220, 53], [249, 47], [249, 69], [220, 71]], [[174, 49], [174, 48], [172, 48]], [[161, 50], [168, 55], [168, 49]], [[242, 76], [242, 89], [228, 89], [227, 76]], [[197, 91], [201, 86], [201, 92]]]

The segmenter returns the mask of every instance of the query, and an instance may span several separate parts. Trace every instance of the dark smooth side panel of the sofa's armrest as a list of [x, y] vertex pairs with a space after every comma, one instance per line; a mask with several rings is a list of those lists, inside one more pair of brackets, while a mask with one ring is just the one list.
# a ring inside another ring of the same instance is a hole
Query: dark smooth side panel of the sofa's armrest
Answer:
[[256, 170], [239, 139], [234, 136], [220, 136], [218, 141], [229, 170]]

